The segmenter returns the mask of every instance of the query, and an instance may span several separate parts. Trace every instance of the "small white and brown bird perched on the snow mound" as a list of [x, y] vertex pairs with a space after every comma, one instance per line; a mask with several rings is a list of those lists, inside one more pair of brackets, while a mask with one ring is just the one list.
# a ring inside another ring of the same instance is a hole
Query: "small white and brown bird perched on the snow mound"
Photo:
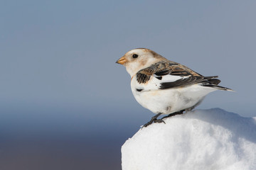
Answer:
[[166, 118], [191, 111], [212, 91], [233, 91], [218, 86], [218, 76], [204, 77], [146, 48], [127, 52], [117, 63], [131, 75], [132, 94], [137, 102], [156, 113], [144, 127], [164, 122], [163, 118], [157, 119], [161, 114]]

